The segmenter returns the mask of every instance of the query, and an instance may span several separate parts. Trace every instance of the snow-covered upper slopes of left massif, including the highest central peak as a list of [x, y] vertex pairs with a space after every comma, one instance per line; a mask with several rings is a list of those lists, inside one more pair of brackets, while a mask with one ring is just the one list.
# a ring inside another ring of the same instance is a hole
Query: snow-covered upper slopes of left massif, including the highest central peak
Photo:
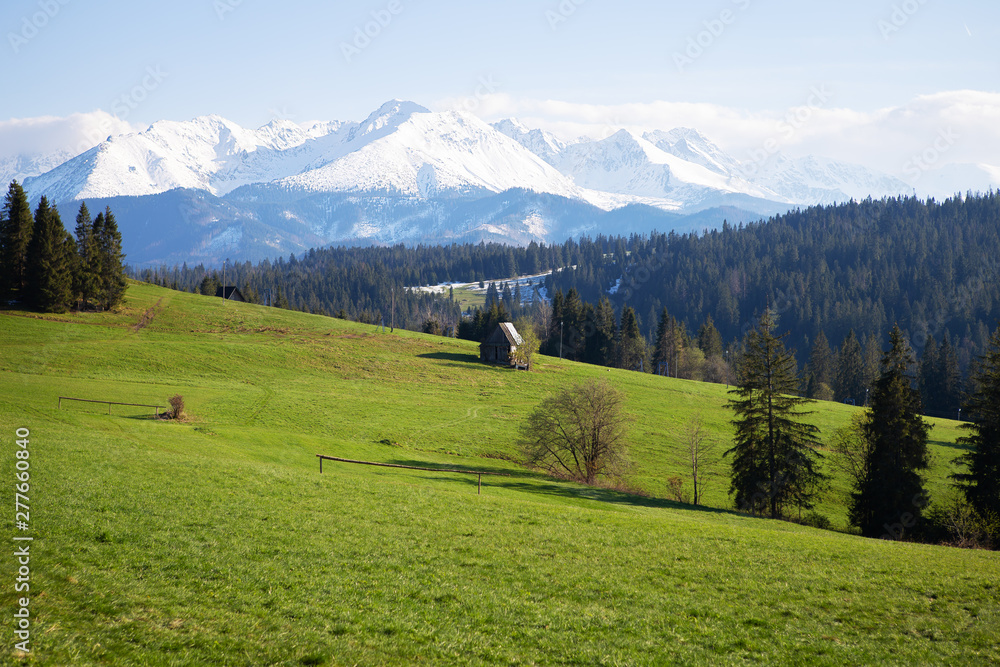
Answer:
[[31, 180], [56, 201], [145, 196], [176, 188], [224, 196], [254, 183], [307, 192], [391, 191], [429, 198], [523, 188], [585, 194], [475, 116], [393, 100], [361, 123], [247, 130], [219, 116], [163, 121], [110, 138]]

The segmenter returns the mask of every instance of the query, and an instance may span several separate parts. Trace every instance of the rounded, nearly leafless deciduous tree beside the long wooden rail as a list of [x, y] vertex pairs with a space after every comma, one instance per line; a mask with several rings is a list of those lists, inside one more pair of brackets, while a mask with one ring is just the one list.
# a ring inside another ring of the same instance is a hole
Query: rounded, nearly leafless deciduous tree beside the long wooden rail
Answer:
[[624, 398], [607, 381], [590, 380], [545, 399], [521, 429], [526, 461], [587, 484], [620, 475], [628, 457]]

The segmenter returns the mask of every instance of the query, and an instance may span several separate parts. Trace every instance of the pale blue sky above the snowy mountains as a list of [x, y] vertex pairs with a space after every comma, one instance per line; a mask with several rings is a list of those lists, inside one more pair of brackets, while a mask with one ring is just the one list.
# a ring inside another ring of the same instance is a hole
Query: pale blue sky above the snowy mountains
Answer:
[[[920, 113], [954, 91], [966, 92], [924, 113], [953, 117], [977, 91], [988, 120], [1000, 81], [995, 0], [6, 0], [0, 25], [0, 126], [98, 110], [134, 127], [361, 120], [403, 98], [563, 134], [703, 119], [747, 150], [817, 86], [830, 95], [812, 134], [829, 135], [851, 114]], [[793, 143], [813, 150], [810, 136]]]

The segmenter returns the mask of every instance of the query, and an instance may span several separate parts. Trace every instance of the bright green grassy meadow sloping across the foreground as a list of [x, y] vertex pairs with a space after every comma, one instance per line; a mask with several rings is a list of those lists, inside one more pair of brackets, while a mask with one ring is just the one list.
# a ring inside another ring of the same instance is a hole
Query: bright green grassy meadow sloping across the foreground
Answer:
[[[148, 326], [134, 325], [151, 313]], [[1000, 558], [662, 500], [725, 387], [133, 285], [116, 314], [0, 313], [3, 517], [31, 430], [31, 653], [39, 665], [969, 664], [1000, 662]], [[525, 412], [605, 377], [635, 416], [629, 496], [507, 459]], [[165, 405], [65, 404], [58, 396]], [[851, 409], [816, 404], [824, 434]], [[932, 495], [957, 434], [935, 422]], [[316, 454], [443, 472], [326, 463]], [[845, 524], [846, 483], [820, 511]], [[9, 543], [12, 544], [12, 543]], [[11, 548], [8, 553], [12, 552]], [[0, 557], [4, 609], [16, 560]]]

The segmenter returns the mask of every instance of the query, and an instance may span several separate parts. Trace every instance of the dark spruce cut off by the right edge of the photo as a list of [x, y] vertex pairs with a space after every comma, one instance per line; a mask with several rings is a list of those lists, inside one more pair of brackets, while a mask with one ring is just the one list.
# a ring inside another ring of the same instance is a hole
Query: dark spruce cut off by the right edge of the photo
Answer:
[[966, 500], [982, 517], [1000, 519], [1000, 328], [990, 338], [976, 372], [978, 389], [965, 406], [969, 435], [958, 440], [969, 448], [956, 463], [966, 472], [953, 475]]

